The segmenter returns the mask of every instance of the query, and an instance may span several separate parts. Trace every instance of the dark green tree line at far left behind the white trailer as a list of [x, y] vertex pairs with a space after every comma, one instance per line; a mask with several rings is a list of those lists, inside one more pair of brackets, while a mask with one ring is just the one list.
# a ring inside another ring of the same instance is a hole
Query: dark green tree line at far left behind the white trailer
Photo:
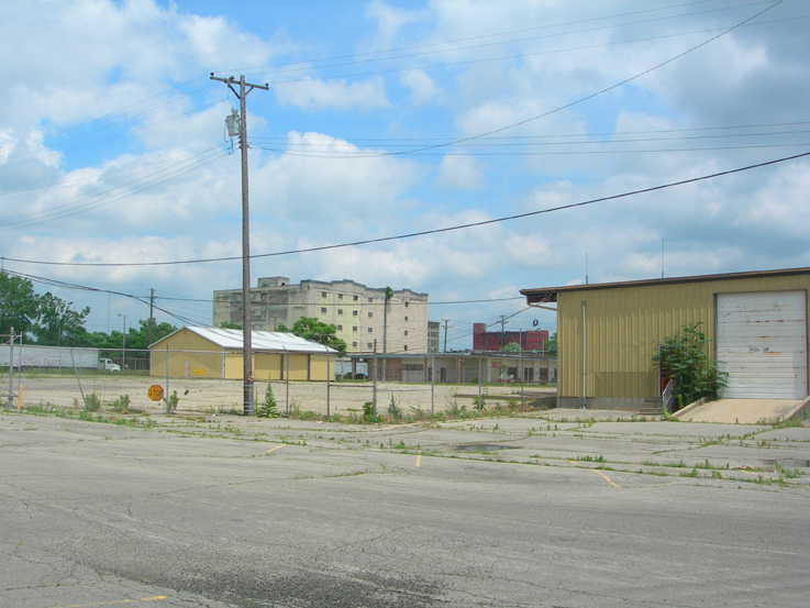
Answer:
[[[43, 346], [91, 347], [104, 351], [121, 351], [123, 333], [112, 330], [89, 332], [85, 320], [90, 307], [80, 310], [54, 296], [49, 291], [36, 294], [31, 280], [9, 275], [0, 270], [0, 335], [23, 334], [30, 344]], [[152, 325], [152, 342], [177, 331], [171, 323], [160, 322]], [[123, 329], [123, 328], [122, 328]], [[147, 356], [145, 352], [130, 354], [130, 351], [146, 351], [149, 347], [149, 319], [141, 319], [137, 327], [126, 329], [127, 356]]]

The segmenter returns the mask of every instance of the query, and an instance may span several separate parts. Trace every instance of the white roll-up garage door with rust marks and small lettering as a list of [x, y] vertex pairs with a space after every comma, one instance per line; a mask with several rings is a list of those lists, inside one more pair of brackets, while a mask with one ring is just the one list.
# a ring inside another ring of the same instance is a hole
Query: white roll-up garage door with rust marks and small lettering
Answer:
[[718, 294], [718, 361], [729, 399], [807, 397], [805, 291]]

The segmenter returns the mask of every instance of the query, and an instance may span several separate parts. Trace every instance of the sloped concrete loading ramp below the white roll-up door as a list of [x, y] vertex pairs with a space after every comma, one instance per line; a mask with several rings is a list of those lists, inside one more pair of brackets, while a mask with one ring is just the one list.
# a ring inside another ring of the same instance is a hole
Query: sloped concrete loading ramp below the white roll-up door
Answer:
[[801, 399], [719, 399], [697, 401], [673, 414], [691, 422], [754, 424], [768, 420], [790, 420], [810, 416], [810, 398]]

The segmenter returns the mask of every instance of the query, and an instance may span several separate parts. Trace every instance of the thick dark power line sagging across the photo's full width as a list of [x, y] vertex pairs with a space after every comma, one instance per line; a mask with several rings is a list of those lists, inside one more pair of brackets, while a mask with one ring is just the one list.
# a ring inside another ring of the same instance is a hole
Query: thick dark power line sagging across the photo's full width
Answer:
[[[313, 253], [313, 252], [320, 252], [320, 251], [330, 251], [330, 250], [337, 250], [337, 248], [344, 248], [344, 247], [355, 247], [359, 245], [368, 245], [373, 243], [385, 243], [387, 241], [398, 241], [400, 239], [414, 239], [417, 236], [426, 236], [429, 234], [440, 234], [444, 232], [453, 232], [456, 230], [464, 230], [468, 228], [477, 228], [481, 225], [489, 225], [500, 222], [507, 222], [512, 220], [519, 220], [523, 218], [530, 218], [533, 215], [541, 215], [544, 213], [553, 213], [555, 211], [563, 211], [566, 209], [575, 209], [577, 207], [586, 207], [589, 204], [595, 204], [597, 202], [606, 202], [609, 200], [618, 200], [621, 198], [626, 198], [631, 196], [636, 195], [643, 195], [648, 192], [655, 192], [657, 190], [665, 190], [668, 188], [675, 188], [677, 186], [684, 186], [686, 184], [696, 184], [698, 181], [704, 181], [707, 179], [713, 179], [715, 177], [722, 177], [726, 175], [733, 175], [737, 173], [743, 173], [761, 167], [767, 167], [770, 165], [776, 165], [779, 163], [786, 163], [788, 161], [796, 161], [798, 158], [803, 158], [806, 156], [810, 156], [810, 152], [803, 152], [801, 154], [795, 154], [792, 156], [785, 156], [781, 158], [776, 158], [774, 161], [766, 161], [764, 163], [756, 163], [754, 165], [747, 165], [744, 167], [737, 167], [735, 169], [729, 169], [724, 172], [718, 172], [709, 175], [703, 175], [699, 177], [691, 177], [689, 179], [683, 179], [679, 181], [670, 181], [668, 184], [662, 184], [659, 186], [652, 186], [650, 188], [641, 188], [639, 190], [631, 190], [626, 192], [622, 192], [619, 195], [611, 195], [607, 197], [599, 197], [595, 199], [589, 199], [580, 202], [573, 202], [569, 204], [562, 204], [558, 207], [552, 207], [548, 209], [540, 209], [537, 211], [529, 211], [525, 213], [519, 213], [515, 215], [507, 215], [502, 218], [495, 218], [491, 220], [482, 220], [480, 222], [469, 222], [466, 224], [456, 224], [453, 226], [447, 228], [439, 228], [433, 230], [423, 230], [420, 232], [411, 232], [407, 234], [399, 234], [396, 236], [381, 236], [378, 239], [366, 239], [363, 241], [354, 241], [351, 243], [341, 243], [341, 244], [334, 244], [334, 245], [322, 245], [318, 247], [308, 247], [308, 248], [301, 248], [301, 250], [289, 250], [289, 251], [282, 251], [282, 252], [275, 252], [275, 253], [264, 253], [264, 254], [254, 254], [251, 257], [252, 258], [259, 258], [259, 257], [280, 257], [285, 255], [293, 255], [293, 254], [301, 254], [301, 253]], [[91, 266], [91, 267], [130, 267], [130, 266], [176, 266], [181, 264], [207, 264], [212, 262], [233, 262], [234, 259], [242, 259], [241, 256], [226, 256], [226, 257], [209, 257], [209, 258], [200, 258], [200, 259], [184, 259], [184, 261], [170, 261], [170, 262], [131, 262], [131, 263], [112, 263], [112, 262], [90, 262], [90, 263], [81, 263], [81, 262], [43, 262], [43, 261], [35, 261], [35, 259], [22, 259], [18, 257], [8, 257], [5, 256], [4, 259], [9, 262], [19, 262], [21, 264], [40, 264], [44, 266]]]

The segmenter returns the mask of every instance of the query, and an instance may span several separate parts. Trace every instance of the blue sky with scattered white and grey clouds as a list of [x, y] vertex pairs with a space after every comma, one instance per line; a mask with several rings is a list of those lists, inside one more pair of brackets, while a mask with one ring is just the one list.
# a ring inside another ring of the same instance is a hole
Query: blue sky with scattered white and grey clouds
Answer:
[[809, 26], [803, 0], [7, 0], [2, 265], [89, 331], [152, 289], [158, 321], [210, 324], [242, 285], [214, 73], [269, 85], [254, 286], [426, 292], [468, 349], [474, 322], [555, 330], [522, 288], [810, 266], [810, 157], [781, 161], [810, 153]]

